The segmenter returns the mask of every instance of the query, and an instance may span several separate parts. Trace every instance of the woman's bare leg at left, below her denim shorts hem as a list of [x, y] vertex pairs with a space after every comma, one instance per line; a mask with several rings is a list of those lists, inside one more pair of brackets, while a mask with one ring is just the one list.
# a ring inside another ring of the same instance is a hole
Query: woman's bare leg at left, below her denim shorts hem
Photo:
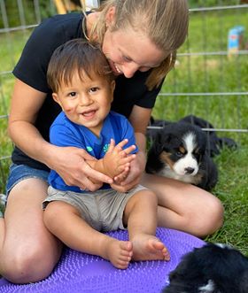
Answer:
[[43, 225], [45, 181], [28, 178], [9, 194], [0, 219], [0, 274], [27, 283], [47, 277], [57, 264], [62, 244]]

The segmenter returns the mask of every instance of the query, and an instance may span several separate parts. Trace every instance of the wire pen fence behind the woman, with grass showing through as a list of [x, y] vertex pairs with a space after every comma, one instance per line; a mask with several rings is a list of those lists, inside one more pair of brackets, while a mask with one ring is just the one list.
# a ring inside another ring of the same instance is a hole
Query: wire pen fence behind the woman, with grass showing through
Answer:
[[[13, 12], [8, 11], [7, 1], [0, 0], [0, 192], [4, 191], [12, 150], [6, 131], [12, 68], [34, 27], [43, 19], [43, 2], [30, 0], [29, 3], [33, 22], [27, 21], [23, 0], [16, 0], [14, 17], [18, 25], [12, 26]], [[46, 9], [50, 15], [58, 12], [55, 1], [48, 0]], [[205, 130], [235, 133], [239, 138], [247, 135], [247, 12], [248, 4], [190, 9], [189, 36], [178, 51], [175, 70], [168, 74], [159, 94], [154, 109], [156, 117], [179, 120], [194, 114], [214, 125], [213, 129]], [[236, 47], [231, 47], [231, 41], [235, 40], [229, 35], [230, 29], [237, 26], [241, 31], [236, 33]]]

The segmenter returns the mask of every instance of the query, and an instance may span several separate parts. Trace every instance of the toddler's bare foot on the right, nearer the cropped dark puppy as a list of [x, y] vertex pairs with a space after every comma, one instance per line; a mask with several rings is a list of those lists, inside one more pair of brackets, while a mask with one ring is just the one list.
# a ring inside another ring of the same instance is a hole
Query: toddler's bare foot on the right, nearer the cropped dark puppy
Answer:
[[169, 260], [170, 255], [164, 243], [153, 235], [140, 234], [132, 239], [133, 260]]

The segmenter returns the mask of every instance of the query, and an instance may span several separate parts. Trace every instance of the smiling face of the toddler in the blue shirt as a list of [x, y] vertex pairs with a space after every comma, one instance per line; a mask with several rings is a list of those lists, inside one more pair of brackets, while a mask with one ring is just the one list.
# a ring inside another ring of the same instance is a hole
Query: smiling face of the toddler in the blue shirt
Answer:
[[98, 136], [111, 109], [114, 85], [114, 81], [107, 81], [97, 74], [92, 74], [92, 80], [83, 74], [81, 81], [75, 73], [70, 84], [61, 82], [58, 93], [52, 96], [69, 120], [89, 128]]

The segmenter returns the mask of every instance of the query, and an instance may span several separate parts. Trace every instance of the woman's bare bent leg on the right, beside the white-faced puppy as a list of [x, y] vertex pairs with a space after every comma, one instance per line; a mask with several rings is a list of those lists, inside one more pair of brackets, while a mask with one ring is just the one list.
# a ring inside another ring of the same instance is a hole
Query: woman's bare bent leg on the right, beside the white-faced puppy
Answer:
[[158, 226], [169, 227], [203, 237], [223, 222], [221, 201], [204, 189], [145, 173], [143, 186], [158, 197]]

